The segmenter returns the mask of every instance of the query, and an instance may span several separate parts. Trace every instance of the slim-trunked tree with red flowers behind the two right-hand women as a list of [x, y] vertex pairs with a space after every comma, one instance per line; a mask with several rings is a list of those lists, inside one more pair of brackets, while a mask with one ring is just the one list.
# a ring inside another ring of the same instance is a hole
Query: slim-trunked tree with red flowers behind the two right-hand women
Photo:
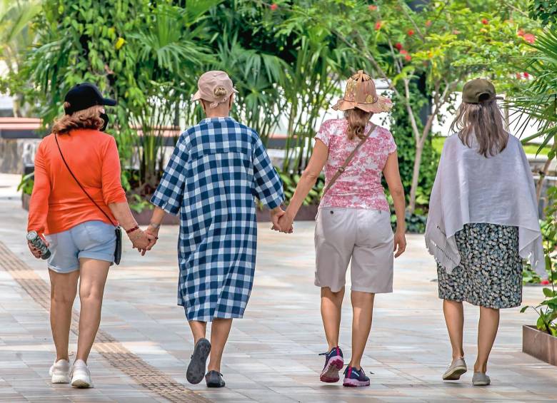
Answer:
[[[513, 77], [511, 61], [528, 51], [525, 44], [532, 34], [524, 38], [517, 31], [535, 24], [521, 13], [521, 4], [511, 0], [506, 3], [512, 7], [491, 3], [492, 11], [483, 6], [472, 9], [458, 0], [431, 1], [419, 11], [402, 0], [371, 5], [307, 0], [292, 7], [290, 21], [311, 26], [323, 36], [334, 36], [353, 57], [365, 58], [374, 75], [389, 83], [406, 108], [416, 143], [408, 205], [411, 213], [416, 208], [423, 149], [433, 121], [441, 118], [442, 108], [455, 101], [454, 91], [466, 78], [478, 74], [508, 81]], [[421, 106], [416, 106], [411, 91], [411, 83], [421, 75], [431, 96], [431, 111], [426, 113], [423, 128], [418, 124]]]

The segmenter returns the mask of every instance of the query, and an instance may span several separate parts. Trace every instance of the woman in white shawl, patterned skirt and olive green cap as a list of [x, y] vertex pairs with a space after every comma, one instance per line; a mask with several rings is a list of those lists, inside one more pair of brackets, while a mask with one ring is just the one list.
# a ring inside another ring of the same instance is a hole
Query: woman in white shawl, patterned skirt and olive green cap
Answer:
[[530, 165], [521, 142], [503, 128], [497, 98], [487, 80], [464, 85], [426, 225], [453, 350], [443, 380], [460, 379], [467, 370], [462, 342], [466, 301], [480, 307], [474, 385], [491, 382], [487, 361], [499, 310], [521, 305], [522, 258], [530, 257], [532, 267], [546, 276]]

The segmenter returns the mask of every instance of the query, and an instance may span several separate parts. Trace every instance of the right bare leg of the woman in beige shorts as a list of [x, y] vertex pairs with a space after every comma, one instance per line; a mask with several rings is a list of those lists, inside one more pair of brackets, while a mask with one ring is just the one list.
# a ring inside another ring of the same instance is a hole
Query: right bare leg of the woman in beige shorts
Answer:
[[360, 369], [363, 350], [368, 342], [371, 330], [371, 318], [373, 317], [373, 300], [375, 294], [371, 292], [352, 291], [352, 358], [348, 364], [350, 367]]

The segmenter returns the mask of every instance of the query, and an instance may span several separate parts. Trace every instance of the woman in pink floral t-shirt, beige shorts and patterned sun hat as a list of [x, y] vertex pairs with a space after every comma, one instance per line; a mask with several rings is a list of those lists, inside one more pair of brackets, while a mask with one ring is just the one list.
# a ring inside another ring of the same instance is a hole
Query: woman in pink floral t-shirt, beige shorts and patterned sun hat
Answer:
[[[333, 106], [345, 111], [345, 117], [321, 126], [308, 167], [286, 214], [278, 222], [283, 230], [291, 230], [293, 218], [324, 167], [326, 189], [315, 230], [315, 285], [321, 287], [321, 316], [328, 342], [328, 352], [323, 353], [323, 382], [337, 382], [344, 364], [338, 332], [348, 262], [351, 261], [353, 334], [352, 358], [343, 384], [368, 386], [369, 378], [361, 369], [360, 360], [371, 329], [373, 299], [378, 292], [392, 292], [393, 252], [398, 257], [406, 248], [404, 191], [396, 145], [386, 128], [369, 121], [373, 113], [389, 111], [391, 105], [388, 98], [377, 96], [373, 80], [363, 71], [348, 78], [344, 97]], [[337, 173], [338, 177], [333, 178]], [[381, 173], [396, 211], [394, 234]]]

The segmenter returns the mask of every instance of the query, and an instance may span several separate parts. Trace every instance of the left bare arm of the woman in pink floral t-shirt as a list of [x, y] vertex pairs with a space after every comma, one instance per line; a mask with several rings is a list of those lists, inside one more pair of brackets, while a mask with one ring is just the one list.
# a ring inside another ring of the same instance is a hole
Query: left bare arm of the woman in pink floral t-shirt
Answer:
[[303, 200], [307, 197], [309, 191], [315, 185], [317, 178], [319, 178], [319, 175], [321, 174], [321, 170], [323, 170], [323, 166], [325, 166], [325, 163], [327, 162], [327, 158], [328, 148], [326, 144], [321, 140], [316, 140], [308, 166], [305, 170], [303, 170], [301, 178], [298, 181], [298, 185], [296, 185], [296, 190], [294, 191], [292, 200], [290, 200], [290, 204], [288, 204], [286, 214], [283, 215], [281, 218], [282, 220], [279, 221], [283, 230], [288, 231], [288, 229], [292, 227], [293, 220], [296, 217], [296, 214], [298, 214], [298, 210], [300, 210]]

